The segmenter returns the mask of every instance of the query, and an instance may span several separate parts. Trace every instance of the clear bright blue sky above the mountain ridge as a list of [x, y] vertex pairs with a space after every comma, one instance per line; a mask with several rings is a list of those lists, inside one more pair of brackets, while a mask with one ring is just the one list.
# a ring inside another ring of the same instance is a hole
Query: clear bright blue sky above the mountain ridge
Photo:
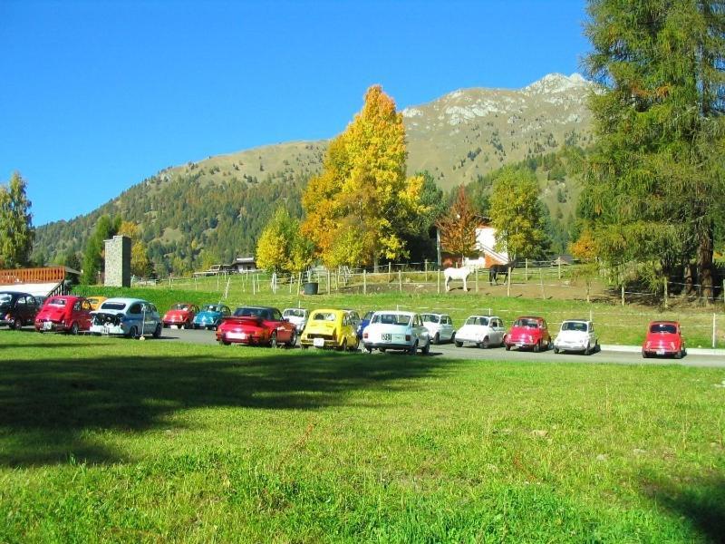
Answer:
[[585, 2], [0, 1], [0, 180], [34, 224], [158, 170], [329, 138], [382, 83], [402, 109], [580, 71]]

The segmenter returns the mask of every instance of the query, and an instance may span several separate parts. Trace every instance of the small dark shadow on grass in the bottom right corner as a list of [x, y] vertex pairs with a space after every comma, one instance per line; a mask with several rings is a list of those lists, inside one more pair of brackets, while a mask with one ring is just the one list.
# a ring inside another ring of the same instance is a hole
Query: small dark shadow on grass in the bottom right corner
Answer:
[[725, 542], [725, 477], [687, 484], [648, 481], [645, 494], [678, 517], [689, 520], [705, 541]]

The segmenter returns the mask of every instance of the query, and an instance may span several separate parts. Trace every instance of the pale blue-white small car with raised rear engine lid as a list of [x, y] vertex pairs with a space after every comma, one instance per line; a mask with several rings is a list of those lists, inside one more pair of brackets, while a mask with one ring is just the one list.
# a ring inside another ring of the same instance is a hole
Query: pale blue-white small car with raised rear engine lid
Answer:
[[94, 335], [118, 335], [138, 338], [161, 335], [161, 317], [147, 300], [140, 298], [107, 298], [92, 312], [91, 332]]

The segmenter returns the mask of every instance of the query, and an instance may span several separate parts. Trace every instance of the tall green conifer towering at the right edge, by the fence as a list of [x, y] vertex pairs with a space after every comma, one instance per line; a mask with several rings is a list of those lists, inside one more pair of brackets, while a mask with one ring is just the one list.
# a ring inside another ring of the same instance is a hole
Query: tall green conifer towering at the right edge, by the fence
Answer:
[[715, 227], [725, 209], [725, 9], [712, 0], [590, 0], [586, 64], [599, 149], [580, 215], [609, 265], [664, 276], [697, 263], [712, 297]]

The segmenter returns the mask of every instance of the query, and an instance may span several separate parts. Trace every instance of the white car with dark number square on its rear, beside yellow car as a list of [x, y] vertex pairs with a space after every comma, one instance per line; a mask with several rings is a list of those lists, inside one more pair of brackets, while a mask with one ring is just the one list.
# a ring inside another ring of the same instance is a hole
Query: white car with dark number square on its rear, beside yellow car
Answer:
[[430, 335], [418, 314], [395, 310], [375, 312], [370, 325], [362, 333], [362, 345], [372, 353], [373, 349], [407, 351], [411, 355], [430, 351]]

